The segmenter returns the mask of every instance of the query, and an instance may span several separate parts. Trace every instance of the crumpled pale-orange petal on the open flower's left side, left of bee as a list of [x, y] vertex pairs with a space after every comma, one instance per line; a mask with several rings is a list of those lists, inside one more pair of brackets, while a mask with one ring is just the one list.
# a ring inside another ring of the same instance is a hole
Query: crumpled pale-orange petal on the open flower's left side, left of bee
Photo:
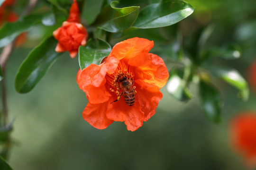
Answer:
[[[106, 82], [105, 77], [98, 76], [101, 71], [101, 67], [95, 64], [91, 64], [82, 71], [79, 70], [77, 73], [76, 81], [79, 87], [86, 93], [87, 99], [92, 104], [107, 102], [110, 99], [110, 93], [106, 89], [104, 83]], [[93, 79], [101, 81], [101, 85], [95, 87], [92, 85]]]

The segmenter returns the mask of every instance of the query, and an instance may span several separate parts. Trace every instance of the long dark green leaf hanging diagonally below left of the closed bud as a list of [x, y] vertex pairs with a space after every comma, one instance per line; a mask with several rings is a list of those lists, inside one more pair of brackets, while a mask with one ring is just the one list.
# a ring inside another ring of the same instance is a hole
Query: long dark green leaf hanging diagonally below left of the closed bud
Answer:
[[15, 77], [15, 88], [19, 93], [31, 91], [45, 76], [48, 69], [62, 54], [55, 52], [57, 40], [50, 37], [35, 47], [20, 65]]

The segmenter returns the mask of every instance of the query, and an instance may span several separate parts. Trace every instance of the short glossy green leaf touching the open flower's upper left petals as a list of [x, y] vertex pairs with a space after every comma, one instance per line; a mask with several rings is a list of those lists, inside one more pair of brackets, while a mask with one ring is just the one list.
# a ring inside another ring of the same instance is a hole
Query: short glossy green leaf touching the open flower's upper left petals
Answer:
[[86, 46], [79, 47], [79, 66], [81, 70], [90, 64], [100, 64], [110, 54], [111, 46], [101, 39], [90, 39]]

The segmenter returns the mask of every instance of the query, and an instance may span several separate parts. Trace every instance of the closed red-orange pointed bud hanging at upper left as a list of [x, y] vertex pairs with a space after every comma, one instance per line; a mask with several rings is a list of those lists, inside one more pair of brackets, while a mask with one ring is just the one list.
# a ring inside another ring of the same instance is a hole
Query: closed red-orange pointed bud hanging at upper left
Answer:
[[88, 33], [86, 28], [80, 24], [80, 12], [76, 0], [73, 0], [68, 19], [53, 32], [53, 35], [58, 40], [55, 51], [69, 51], [72, 58], [78, 53], [80, 45], [86, 45]]

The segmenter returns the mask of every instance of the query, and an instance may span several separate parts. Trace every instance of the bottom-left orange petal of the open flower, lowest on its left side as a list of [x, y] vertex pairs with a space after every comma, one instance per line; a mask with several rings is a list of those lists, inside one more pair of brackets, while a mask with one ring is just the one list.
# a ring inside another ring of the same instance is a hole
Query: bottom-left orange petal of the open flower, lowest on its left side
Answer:
[[88, 102], [85, 109], [82, 112], [82, 117], [91, 126], [96, 127], [98, 129], [104, 129], [108, 127], [113, 120], [110, 120], [106, 117], [106, 110], [108, 107], [108, 102], [98, 103], [98, 104], [91, 104]]

